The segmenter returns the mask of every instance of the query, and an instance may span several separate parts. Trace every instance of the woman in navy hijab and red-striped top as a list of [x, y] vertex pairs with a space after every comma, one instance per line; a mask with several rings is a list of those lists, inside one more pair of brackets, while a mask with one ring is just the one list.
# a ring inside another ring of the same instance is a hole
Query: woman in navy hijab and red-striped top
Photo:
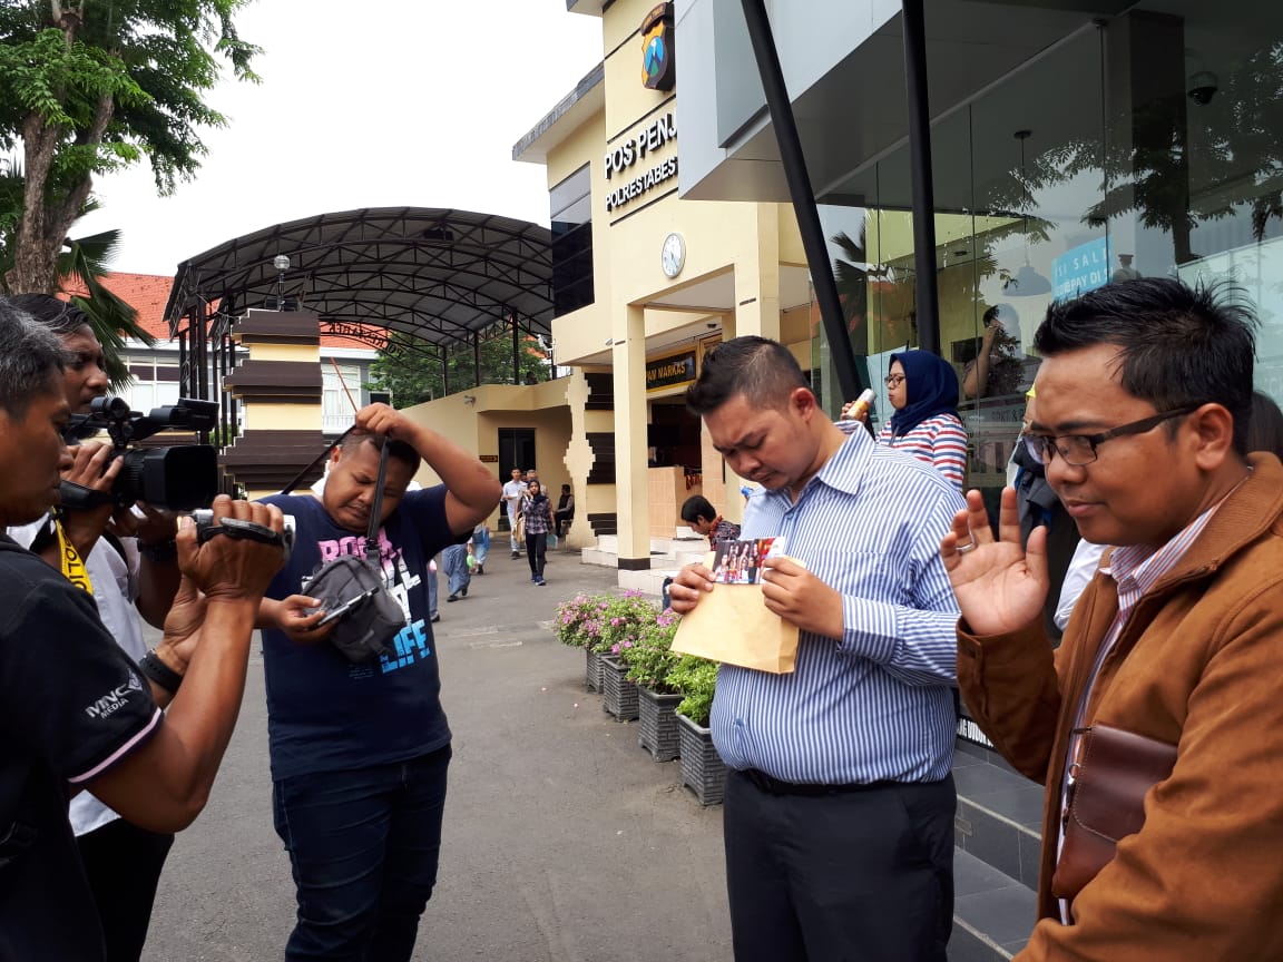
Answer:
[[[878, 443], [931, 464], [960, 491], [966, 472], [966, 430], [958, 418], [958, 377], [929, 350], [890, 355], [887, 398], [896, 413], [878, 432]], [[843, 408], [843, 416], [852, 405]]]

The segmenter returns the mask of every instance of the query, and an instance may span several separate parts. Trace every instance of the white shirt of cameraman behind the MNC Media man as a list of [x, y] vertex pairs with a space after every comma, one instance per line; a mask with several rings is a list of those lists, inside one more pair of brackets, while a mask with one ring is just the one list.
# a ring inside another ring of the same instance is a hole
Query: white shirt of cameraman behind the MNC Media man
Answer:
[[[10, 527], [8, 535], [23, 548], [30, 548], [46, 523], [47, 517], [33, 525]], [[85, 572], [89, 575], [90, 585], [94, 586], [94, 602], [98, 604], [103, 625], [112, 632], [115, 644], [139, 662], [148, 653], [146, 641], [142, 639], [142, 621], [133, 607], [139, 596], [139, 543], [133, 537], [122, 537], [121, 546], [124, 549], [123, 557], [114, 545], [100, 537], [94, 550], [85, 558]], [[46, 644], [56, 644], [56, 640], [47, 639]], [[68, 817], [72, 831], [86, 835], [121, 816], [89, 791], [81, 791], [72, 799]]]

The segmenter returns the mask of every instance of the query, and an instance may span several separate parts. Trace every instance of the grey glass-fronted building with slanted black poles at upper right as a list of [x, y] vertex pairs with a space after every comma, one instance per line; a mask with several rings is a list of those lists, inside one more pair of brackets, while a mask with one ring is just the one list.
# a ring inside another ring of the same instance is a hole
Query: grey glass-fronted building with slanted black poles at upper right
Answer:
[[[852, 346], [872, 382], [916, 344], [905, 44], [892, 0], [766, 0]], [[965, 381], [969, 484], [1001, 484], [1052, 299], [1228, 281], [1283, 396], [1283, 6], [928, 0], [940, 353]], [[740, 0], [685, 0], [681, 196], [784, 201]]]

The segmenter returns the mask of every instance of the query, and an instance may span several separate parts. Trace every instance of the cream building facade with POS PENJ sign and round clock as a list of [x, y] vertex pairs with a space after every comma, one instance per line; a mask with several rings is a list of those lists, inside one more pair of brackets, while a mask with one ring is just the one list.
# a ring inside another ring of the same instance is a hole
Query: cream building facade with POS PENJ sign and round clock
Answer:
[[603, 62], [513, 156], [548, 171], [553, 342], [572, 369], [556, 382], [571, 418], [571, 544], [616, 535], [621, 584], [644, 585], [652, 539], [674, 536], [689, 495], [742, 512], [740, 480], [683, 400], [704, 351], [757, 333], [817, 368], [810, 274], [789, 204], [683, 199], [688, 62], [674, 5], [571, 10], [600, 17]]

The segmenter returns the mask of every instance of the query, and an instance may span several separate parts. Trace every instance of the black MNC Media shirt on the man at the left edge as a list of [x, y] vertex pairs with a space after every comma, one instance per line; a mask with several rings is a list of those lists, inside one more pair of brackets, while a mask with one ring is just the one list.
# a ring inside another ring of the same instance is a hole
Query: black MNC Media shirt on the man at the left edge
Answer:
[[0, 962], [104, 957], [67, 803], [159, 723], [92, 598], [0, 535]]

